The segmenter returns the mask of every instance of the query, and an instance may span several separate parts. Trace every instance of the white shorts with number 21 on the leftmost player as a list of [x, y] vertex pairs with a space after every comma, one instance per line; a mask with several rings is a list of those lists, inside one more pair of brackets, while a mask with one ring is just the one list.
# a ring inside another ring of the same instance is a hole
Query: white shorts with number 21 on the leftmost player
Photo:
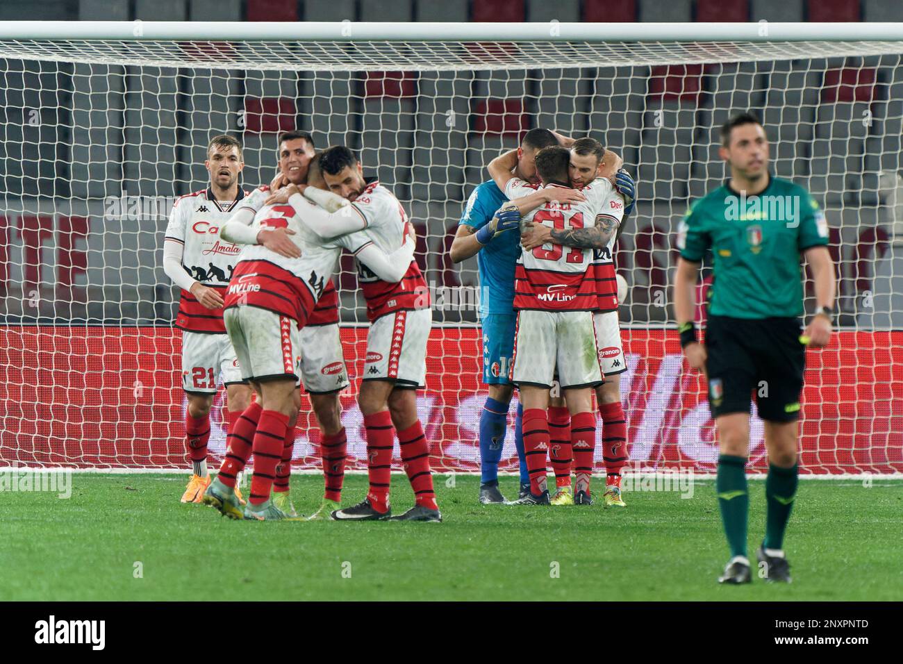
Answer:
[[245, 382], [228, 334], [182, 330], [182, 389], [216, 394], [220, 375], [223, 385]]

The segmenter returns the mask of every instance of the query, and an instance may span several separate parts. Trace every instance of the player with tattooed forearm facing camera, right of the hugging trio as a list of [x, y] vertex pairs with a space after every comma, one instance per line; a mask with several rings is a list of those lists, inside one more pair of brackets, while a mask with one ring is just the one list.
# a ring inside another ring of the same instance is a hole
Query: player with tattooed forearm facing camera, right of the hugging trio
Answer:
[[[624, 218], [634, 207], [635, 184], [628, 173], [620, 169], [620, 159], [612, 158], [614, 153], [605, 150], [593, 138], [579, 138], [571, 146], [571, 185], [582, 189], [597, 178], [613, 179], [616, 189], [629, 202], [614, 197], [609, 201], [612, 209], [623, 207]], [[625, 204], [626, 203], [626, 204]], [[591, 231], [550, 229], [531, 224], [525, 230], [523, 246], [532, 250], [553, 242], [564, 247], [593, 249], [593, 279], [597, 286], [597, 308], [594, 313], [597, 341], [600, 347], [600, 361], [605, 382], [596, 388], [596, 399], [602, 419], [602, 457], [605, 461], [606, 486], [602, 496], [605, 507], [625, 507], [620, 495], [620, 472], [628, 461], [627, 419], [621, 405], [619, 376], [627, 369], [618, 323], [617, 276], [614, 266], [614, 245], [624, 226], [620, 223], [614, 229], [597, 226]], [[572, 449], [570, 441], [571, 418], [563, 399], [554, 398], [549, 407], [549, 427], [552, 447], [550, 456], [555, 472], [557, 492], [552, 498], [553, 505], [573, 504], [574, 491], [571, 486]], [[591, 473], [592, 468], [579, 468], [580, 474]], [[583, 491], [587, 499], [591, 496], [588, 488]]]

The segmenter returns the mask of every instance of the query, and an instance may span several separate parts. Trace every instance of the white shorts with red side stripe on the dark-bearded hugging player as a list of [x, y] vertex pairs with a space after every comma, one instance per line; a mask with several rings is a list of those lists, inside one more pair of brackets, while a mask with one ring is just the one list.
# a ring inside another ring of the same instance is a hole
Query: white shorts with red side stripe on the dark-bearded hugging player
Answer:
[[370, 324], [363, 380], [391, 380], [398, 387], [423, 388], [426, 342], [433, 312], [416, 309], [387, 313]]

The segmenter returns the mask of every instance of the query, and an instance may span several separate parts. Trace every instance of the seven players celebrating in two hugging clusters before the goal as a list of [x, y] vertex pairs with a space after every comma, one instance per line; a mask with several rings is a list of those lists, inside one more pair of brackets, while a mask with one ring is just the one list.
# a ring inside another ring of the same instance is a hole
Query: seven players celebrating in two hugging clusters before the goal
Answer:
[[[393, 193], [364, 178], [349, 148], [318, 152], [303, 131], [281, 134], [277, 145], [274, 180], [247, 192], [238, 184], [241, 145], [215, 136], [205, 162], [209, 187], [182, 196], [166, 229], [163, 266], [182, 288], [175, 325], [182, 330], [192, 464], [182, 502], [202, 502], [232, 519], [301, 519], [289, 475], [303, 388], [321, 429], [325, 481], [321, 507], [307, 519], [441, 521], [416, 408], [432, 312], [414, 260], [413, 227]], [[619, 162], [594, 139], [533, 129], [517, 150], [489, 164], [492, 179], [472, 193], [461, 218], [452, 260], [479, 254], [484, 294], [484, 504], [591, 503], [595, 391], [604, 426], [604, 502], [624, 506], [619, 472], [627, 436], [618, 375], [626, 367], [612, 248], [633, 207], [634, 182]], [[370, 323], [358, 389], [369, 490], [346, 508], [339, 395], [349, 377], [332, 283], [343, 249], [356, 259]], [[209, 411], [220, 375], [228, 449], [211, 479]], [[498, 489], [498, 463], [514, 386], [520, 496], [507, 501]], [[395, 435], [414, 507], [393, 517]], [[252, 454], [246, 501], [239, 478]], [[549, 457], [554, 495], [546, 486]]]

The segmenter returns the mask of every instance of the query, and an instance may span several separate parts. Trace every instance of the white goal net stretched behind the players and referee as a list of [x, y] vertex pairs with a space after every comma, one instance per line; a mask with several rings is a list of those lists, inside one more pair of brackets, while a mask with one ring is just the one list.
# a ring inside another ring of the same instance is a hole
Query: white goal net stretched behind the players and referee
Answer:
[[[803, 472], [903, 472], [903, 42], [774, 41], [756, 26], [746, 41], [601, 42], [567, 39], [554, 23], [545, 39], [498, 26], [477, 41], [470, 26], [443, 39], [414, 24], [410, 38], [381, 41], [331, 24], [319, 33], [334, 36], [317, 41], [310, 26], [303, 39], [269, 26], [275, 39], [257, 24], [255, 39], [236, 41], [162, 25], [172, 38], [129, 23], [106, 39], [0, 40], [0, 466], [187, 467], [163, 229], [176, 197], [207, 186], [211, 136], [240, 138], [249, 189], [275, 172], [277, 132], [297, 128], [318, 147], [349, 145], [414, 220], [433, 297], [419, 413], [433, 468], [476, 470], [479, 282], [476, 259], [453, 265], [448, 248], [489, 160], [542, 126], [598, 138], [638, 181], [616, 255], [629, 286], [619, 314], [630, 468], [711, 471], [705, 386], [672, 331], [675, 230], [725, 178], [719, 126], [752, 110], [772, 172], [823, 206], [839, 279], [840, 332], [807, 353]], [[352, 380], [341, 400], [359, 469], [367, 319], [349, 257], [340, 266]], [[221, 407], [220, 393], [214, 455], [225, 449]], [[755, 415], [751, 438], [750, 463], [763, 470]], [[509, 430], [503, 470], [517, 467], [513, 439]], [[294, 464], [319, 469], [306, 400]]]

